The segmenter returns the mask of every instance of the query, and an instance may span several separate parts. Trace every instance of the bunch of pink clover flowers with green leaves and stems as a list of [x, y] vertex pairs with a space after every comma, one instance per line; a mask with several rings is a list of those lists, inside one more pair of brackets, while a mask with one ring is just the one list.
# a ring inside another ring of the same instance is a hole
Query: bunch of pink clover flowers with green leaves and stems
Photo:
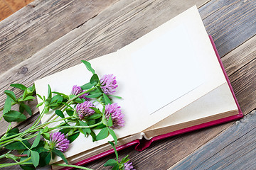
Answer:
[[[11, 122], [22, 122], [26, 120], [26, 111], [32, 115], [31, 108], [27, 103], [35, 97], [35, 86], [26, 87], [22, 84], [11, 84], [12, 87], [21, 89], [23, 95], [16, 97], [13, 91], [4, 91], [6, 101], [4, 108], [1, 108], [4, 118], [10, 123], [6, 133], [0, 139], [1, 149], [6, 153], [0, 159], [13, 160], [12, 163], [0, 164], [0, 168], [19, 165], [21, 169], [36, 169], [48, 164], [55, 157], [60, 157], [66, 164], [54, 164], [55, 166], [70, 166], [79, 169], [87, 169], [83, 166], [68, 164], [65, 153], [73, 141], [82, 134], [92, 137], [92, 141], [103, 140], [109, 135], [114, 142], [109, 142], [114, 148], [117, 160], [110, 159], [104, 166], [112, 166], [112, 169], [133, 169], [132, 162], [128, 157], [118, 160], [117, 136], [114, 130], [124, 126], [124, 114], [117, 103], [112, 103], [112, 98], [117, 89], [117, 80], [112, 74], [106, 74], [101, 79], [92, 69], [91, 64], [82, 60], [85, 67], [92, 73], [90, 82], [82, 86], [74, 85], [70, 94], [63, 94], [61, 91], [52, 91], [48, 85], [48, 95], [41, 96], [43, 111], [31, 125], [30, 128], [19, 132], [18, 128], [12, 128]], [[18, 111], [11, 110], [12, 106], [18, 105]], [[53, 113], [44, 123], [41, 120], [44, 115]], [[98, 132], [95, 133], [95, 130]], [[99, 131], [100, 130], [100, 131]], [[85, 139], [88, 140], [88, 139]], [[29, 142], [31, 141], [31, 142]]]

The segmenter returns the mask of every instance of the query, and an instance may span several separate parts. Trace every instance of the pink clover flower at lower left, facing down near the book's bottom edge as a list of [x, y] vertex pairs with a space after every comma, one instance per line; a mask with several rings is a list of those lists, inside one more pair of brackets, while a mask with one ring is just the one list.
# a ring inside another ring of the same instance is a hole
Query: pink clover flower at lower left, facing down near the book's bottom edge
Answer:
[[61, 152], [65, 152], [68, 149], [70, 141], [65, 138], [65, 135], [61, 132], [54, 132], [50, 134], [49, 146], [50, 149], [54, 147]]

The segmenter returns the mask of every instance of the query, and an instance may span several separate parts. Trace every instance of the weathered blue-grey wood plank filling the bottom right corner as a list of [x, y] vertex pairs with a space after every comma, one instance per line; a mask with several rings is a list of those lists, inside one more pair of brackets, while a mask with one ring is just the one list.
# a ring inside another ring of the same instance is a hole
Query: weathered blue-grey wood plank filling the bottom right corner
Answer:
[[171, 169], [255, 169], [255, 123], [253, 111]]

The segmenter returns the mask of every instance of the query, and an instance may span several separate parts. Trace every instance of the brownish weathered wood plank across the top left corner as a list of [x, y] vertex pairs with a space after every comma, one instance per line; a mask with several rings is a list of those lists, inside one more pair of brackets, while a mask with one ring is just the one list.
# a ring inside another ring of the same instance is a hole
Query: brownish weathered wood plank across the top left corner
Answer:
[[97, 16], [117, 0], [36, 0], [0, 24], [0, 74]]

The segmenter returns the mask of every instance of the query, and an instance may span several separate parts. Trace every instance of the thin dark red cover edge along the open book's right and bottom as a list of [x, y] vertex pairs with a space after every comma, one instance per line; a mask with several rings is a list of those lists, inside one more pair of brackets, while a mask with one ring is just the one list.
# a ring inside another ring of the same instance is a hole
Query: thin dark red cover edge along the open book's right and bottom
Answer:
[[[210, 35], [209, 35], [209, 38], [210, 38], [210, 42], [213, 45], [213, 49], [214, 49], [215, 54], [216, 54], [216, 56], [218, 58], [218, 61], [220, 63], [220, 67], [223, 70], [223, 74], [225, 75], [225, 79], [228, 82], [228, 86], [230, 87], [230, 91], [232, 92], [233, 98], [235, 99], [235, 103], [238, 106], [238, 115], [231, 115], [231, 116], [229, 116], [227, 118], [221, 118], [221, 119], [218, 119], [218, 120], [210, 121], [208, 123], [202, 123], [200, 125], [194, 125], [194, 126], [191, 126], [189, 128], [184, 128], [184, 129], [181, 129], [181, 130], [176, 130], [174, 132], [169, 132], [169, 133], [166, 133], [164, 135], [159, 135], [159, 136], [153, 137], [153, 138], [151, 138], [151, 140], [134, 140], [132, 142], [129, 142], [127, 144], [124, 144], [124, 145], [121, 145], [121, 146], [117, 147], [116, 148], [117, 151], [119, 151], [121, 149], [125, 149], [127, 147], [131, 147], [133, 145], [136, 145], [135, 149], [137, 151], [142, 151], [142, 150], [146, 149], [147, 147], [149, 147], [151, 145], [151, 143], [156, 141], [156, 140], [162, 140], [162, 139], [164, 139], [166, 137], [172, 137], [172, 136], [175, 136], [175, 135], [180, 135], [180, 134], [183, 134], [183, 133], [186, 133], [186, 132], [191, 132], [193, 130], [199, 130], [199, 129], [207, 128], [207, 127], [210, 127], [210, 126], [213, 126], [213, 125], [218, 125], [220, 123], [227, 123], [227, 122], [230, 122], [232, 120], [238, 120], [238, 119], [243, 117], [241, 108], [240, 108], [240, 106], [238, 104], [238, 100], [237, 100], [237, 98], [235, 98], [235, 93], [234, 93], [234, 91], [232, 89], [232, 86], [230, 84], [230, 81], [228, 79], [228, 75], [225, 72], [225, 68], [223, 67], [223, 63], [220, 60], [220, 55], [218, 55], [218, 51], [217, 51], [217, 49], [215, 47], [215, 44], [213, 42], [213, 38]], [[89, 162], [95, 161], [97, 159], [100, 159], [102, 157], [106, 157], [107, 155], [110, 155], [110, 154], [113, 154], [113, 153], [114, 153], [114, 149], [110, 149], [110, 150], [108, 150], [106, 152], [102, 152], [102, 153], [97, 154], [97, 155], [95, 155], [93, 157], [90, 157], [90, 158], [84, 159], [84, 160], [82, 160], [80, 162], [77, 162], [74, 165], [81, 166], [81, 165], [87, 164]], [[70, 169], [74, 169], [74, 168], [73, 167], [65, 167], [65, 168], [63, 168], [61, 170], [70, 170]]]

